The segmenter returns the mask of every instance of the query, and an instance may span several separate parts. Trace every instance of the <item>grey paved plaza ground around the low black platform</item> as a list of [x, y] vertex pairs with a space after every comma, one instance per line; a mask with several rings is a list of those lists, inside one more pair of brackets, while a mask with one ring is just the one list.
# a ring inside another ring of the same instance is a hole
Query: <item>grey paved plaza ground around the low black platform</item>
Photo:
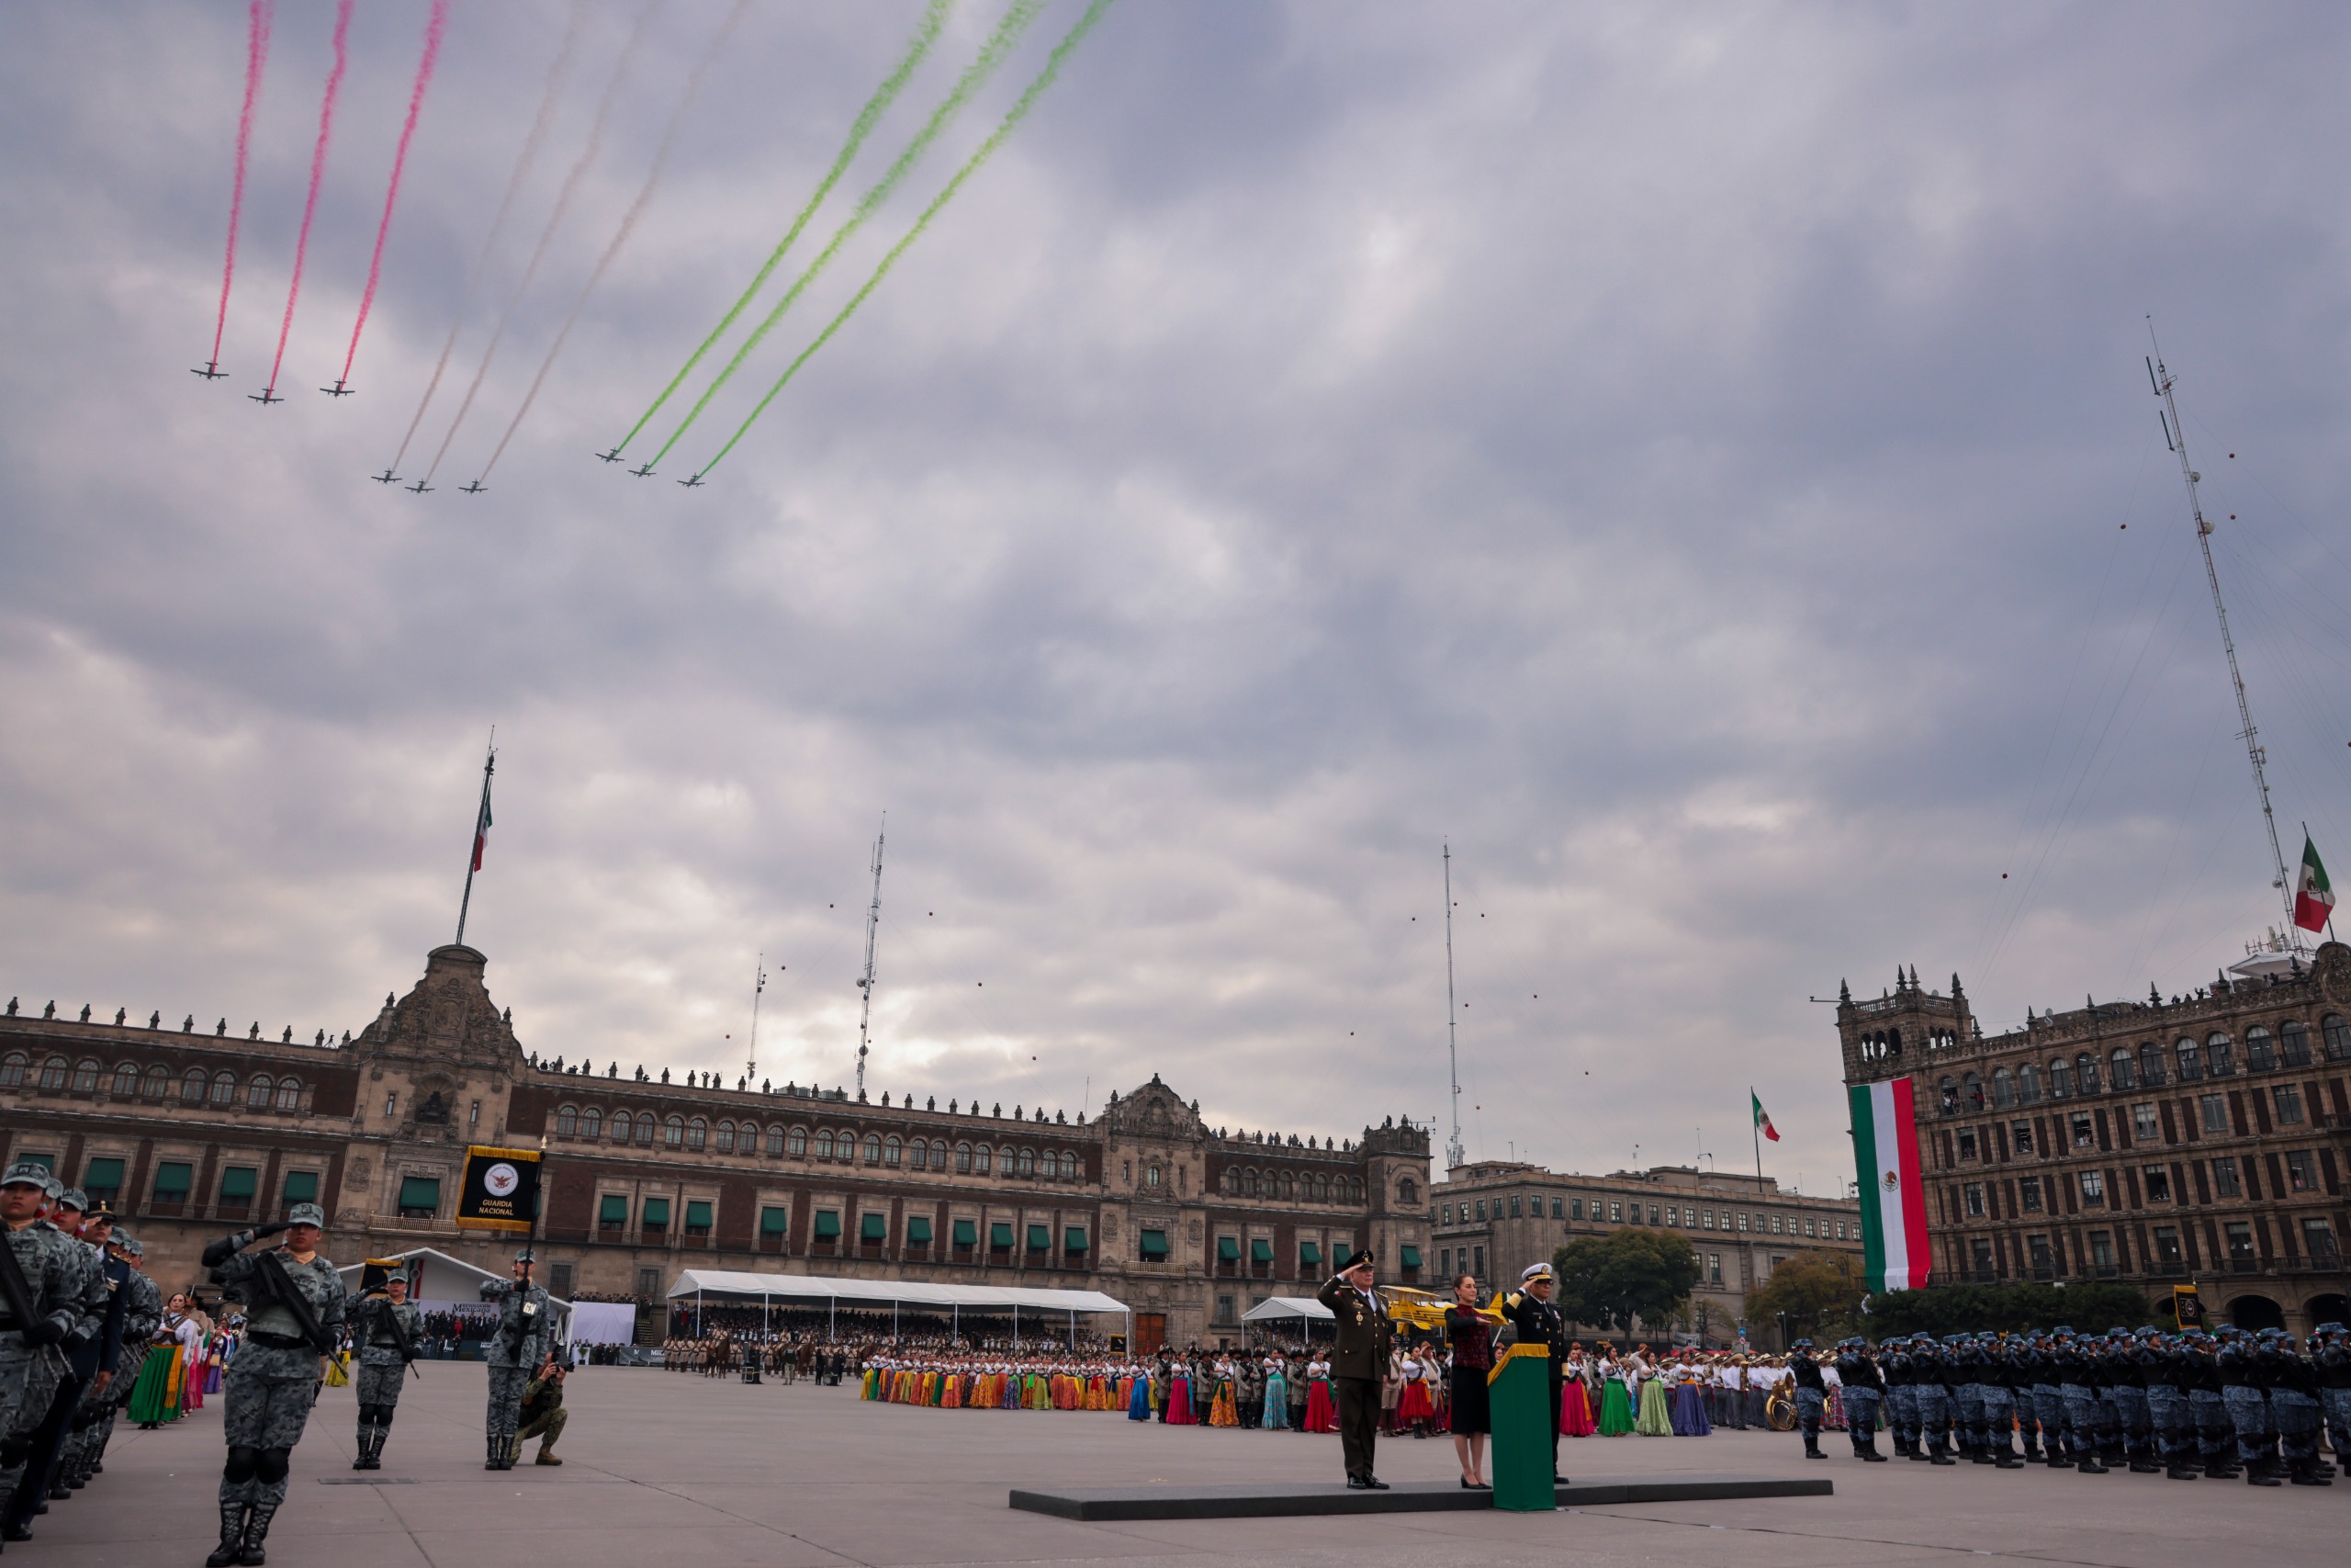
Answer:
[[[1799, 1439], [1566, 1439], [1575, 1479], [1829, 1474], [1834, 1497], [1404, 1514], [1077, 1523], [1006, 1509], [1016, 1486], [1328, 1481], [1335, 1436], [1138, 1425], [1060, 1410], [872, 1406], [853, 1385], [745, 1387], [651, 1368], [571, 1378], [562, 1469], [482, 1469], [482, 1368], [428, 1361], [383, 1469], [355, 1474], [353, 1394], [327, 1389], [294, 1453], [273, 1568], [832, 1568], [837, 1563], [1660, 1563], [1831, 1568], [2031, 1563], [2339, 1563], [2351, 1483], [1827, 1462]], [[527, 1450], [536, 1450], [536, 1443]], [[118, 1429], [106, 1474], [52, 1505], [9, 1568], [195, 1568], [216, 1535], [221, 1408], [162, 1432]], [[1446, 1479], [1453, 1446], [1382, 1441], [1392, 1481]]]

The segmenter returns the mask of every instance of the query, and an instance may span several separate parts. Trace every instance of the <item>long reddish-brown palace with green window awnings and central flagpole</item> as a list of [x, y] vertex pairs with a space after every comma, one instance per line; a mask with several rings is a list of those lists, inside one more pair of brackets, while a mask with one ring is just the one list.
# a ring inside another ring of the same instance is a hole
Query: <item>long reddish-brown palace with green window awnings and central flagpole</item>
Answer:
[[[684, 1267], [1089, 1288], [1136, 1340], [1241, 1338], [1371, 1246], [1427, 1284], [1429, 1138], [1227, 1133], [1154, 1074], [1091, 1119], [912, 1095], [656, 1081], [527, 1053], [473, 947], [357, 1037], [263, 1039], [195, 1018], [9, 1004], [0, 1164], [40, 1159], [113, 1204], [165, 1291], [212, 1237], [320, 1201], [339, 1262], [433, 1246], [503, 1272], [513, 1241], [454, 1222], [468, 1145], [545, 1150], [543, 1279], [658, 1300]], [[668, 1074], [663, 1074], [665, 1079]]]

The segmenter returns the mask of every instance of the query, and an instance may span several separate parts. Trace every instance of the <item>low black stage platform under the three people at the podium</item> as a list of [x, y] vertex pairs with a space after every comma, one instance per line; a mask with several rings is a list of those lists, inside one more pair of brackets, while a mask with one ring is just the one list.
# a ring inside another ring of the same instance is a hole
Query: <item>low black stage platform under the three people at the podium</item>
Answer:
[[[1617, 1502], [1728, 1502], [1737, 1497], [1829, 1497], [1827, 1476], [1674, 1476], [1669, 1481], [1570, 1481], [1559, 1507]], [[1065, 1493], [1013, 1490], [1011, 1507], [1060, 1519], [1277, 1519], [1288, 1514], [1448, 1514], [1491, 1509], [1493, 1493], [1465, 1493], [1455, 1481], [1396, 1481], [1385, 1493], [1326, 1486], [1098, 1486]]]

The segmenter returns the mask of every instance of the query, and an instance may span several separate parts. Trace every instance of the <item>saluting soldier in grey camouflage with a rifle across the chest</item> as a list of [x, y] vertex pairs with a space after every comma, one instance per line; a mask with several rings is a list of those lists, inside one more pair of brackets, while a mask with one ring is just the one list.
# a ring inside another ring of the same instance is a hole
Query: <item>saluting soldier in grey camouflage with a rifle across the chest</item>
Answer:
[[[343, 1326], [343, 1276], [320, 1251], [327, 1211], [294, 1204], [284, 1225], [261, 1225], [221, 1237], [205, 1248], [205, 1267], [230, 1300], [245, 1302], [245, 1349], [221, 1382], [221, 1544], [205, 1568], [268, 1559], [261, 1542], [287, 1500], [294, 1443], [310, 1422], [310, 1401], [324, 1378], [322, 1356]], [[287, 1232], [284, 1246], [245, 1248]]]

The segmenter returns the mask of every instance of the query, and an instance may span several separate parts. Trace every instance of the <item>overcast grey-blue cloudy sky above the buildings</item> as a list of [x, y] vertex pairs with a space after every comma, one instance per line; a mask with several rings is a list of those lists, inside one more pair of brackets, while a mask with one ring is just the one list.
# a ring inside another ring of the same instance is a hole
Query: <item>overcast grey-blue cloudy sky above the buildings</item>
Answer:
[[[875, 1091], [1077, 1114], [1159, 1072], [1444, 1143], [1451, 839], [1472, 1157], [1747, 1168], [1754, 1084], [1824, 1192], [1838, 978], [1958, 971], [2003, 1027], [2280, 919], [2149, 313], [2285, 858], [2309, 820], [2351, 867], [2342, 7], [1119, 0], [698, 489], [1077, 0], [647, 480], [592, 454], [922, 7], [585, 7], [484, 261], [571, 12], [461, 0], [322, 397], [426, 9], [360, 7], [268, 409], [331, 9], [280, 7], [214, 383], [245, 7], [12, 16], [31, 1009], [362, 1027], [454, 933], [496, 724], [468, 940], [543, 1056], [731, 1079], [764, 952], [759, 1077], [849, 1081], [886, 811]], [[752, 315], [999, 16], [955, 7]], [[435, 489], [369, 484], [477, 266], [402, 475], [505, 331]]]

